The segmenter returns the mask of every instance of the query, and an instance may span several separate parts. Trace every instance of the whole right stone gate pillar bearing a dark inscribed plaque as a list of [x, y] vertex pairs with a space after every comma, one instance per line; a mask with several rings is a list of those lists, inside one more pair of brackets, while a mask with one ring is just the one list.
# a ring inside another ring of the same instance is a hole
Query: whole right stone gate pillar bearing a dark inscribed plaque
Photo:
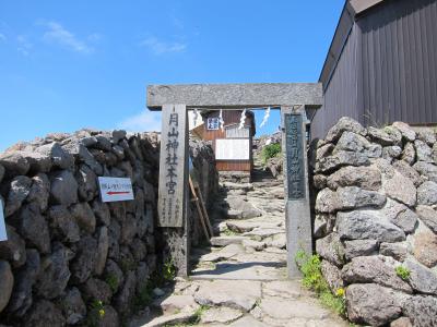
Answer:
[[288, 278], [299, 278], [296, 254], [312, 254], [305, 106], [281, 107]]

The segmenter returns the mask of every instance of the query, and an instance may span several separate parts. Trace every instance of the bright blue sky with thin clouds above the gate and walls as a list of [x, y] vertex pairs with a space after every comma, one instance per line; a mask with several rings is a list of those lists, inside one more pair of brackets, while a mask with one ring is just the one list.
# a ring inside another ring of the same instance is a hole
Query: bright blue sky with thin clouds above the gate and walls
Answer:
[[[0, 150], [158, 130], [147, 84], [316, 82], [344, 0], [0, 0]], [[277, 129], [279, 114], [258, 133]]]

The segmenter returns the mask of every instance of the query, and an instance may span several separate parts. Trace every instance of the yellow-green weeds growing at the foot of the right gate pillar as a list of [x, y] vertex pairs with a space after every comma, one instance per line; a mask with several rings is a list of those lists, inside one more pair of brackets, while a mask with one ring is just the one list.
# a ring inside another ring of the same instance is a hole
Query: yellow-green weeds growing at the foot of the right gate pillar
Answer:
[[328, 282], [321, 274], [321, 261], [318, 255], [308, 255], [304, 251], [296, 254], [296, 263], [304, 275], [303, 284], [319, 296], [321, 303], [341, 316], [346, 315], [346, 301], [344, 289], [339, 289], [332, 294]]

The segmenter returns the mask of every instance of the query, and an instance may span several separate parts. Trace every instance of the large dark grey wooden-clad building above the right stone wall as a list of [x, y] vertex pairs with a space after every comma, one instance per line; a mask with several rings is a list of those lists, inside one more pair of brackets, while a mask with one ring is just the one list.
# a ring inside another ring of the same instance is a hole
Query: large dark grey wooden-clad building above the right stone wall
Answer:
[[347, 0], [319, 82], [314, 138], [343, 116], [437, 124], [437, 0]]

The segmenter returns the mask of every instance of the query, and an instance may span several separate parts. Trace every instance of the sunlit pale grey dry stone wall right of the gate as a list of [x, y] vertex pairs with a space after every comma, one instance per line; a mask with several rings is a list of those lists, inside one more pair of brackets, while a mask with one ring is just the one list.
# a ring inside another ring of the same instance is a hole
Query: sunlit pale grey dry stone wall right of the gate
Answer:
[[316, 249], [354, 323], [437, 326], [436, 138], [342, 118], [317, 142]]

